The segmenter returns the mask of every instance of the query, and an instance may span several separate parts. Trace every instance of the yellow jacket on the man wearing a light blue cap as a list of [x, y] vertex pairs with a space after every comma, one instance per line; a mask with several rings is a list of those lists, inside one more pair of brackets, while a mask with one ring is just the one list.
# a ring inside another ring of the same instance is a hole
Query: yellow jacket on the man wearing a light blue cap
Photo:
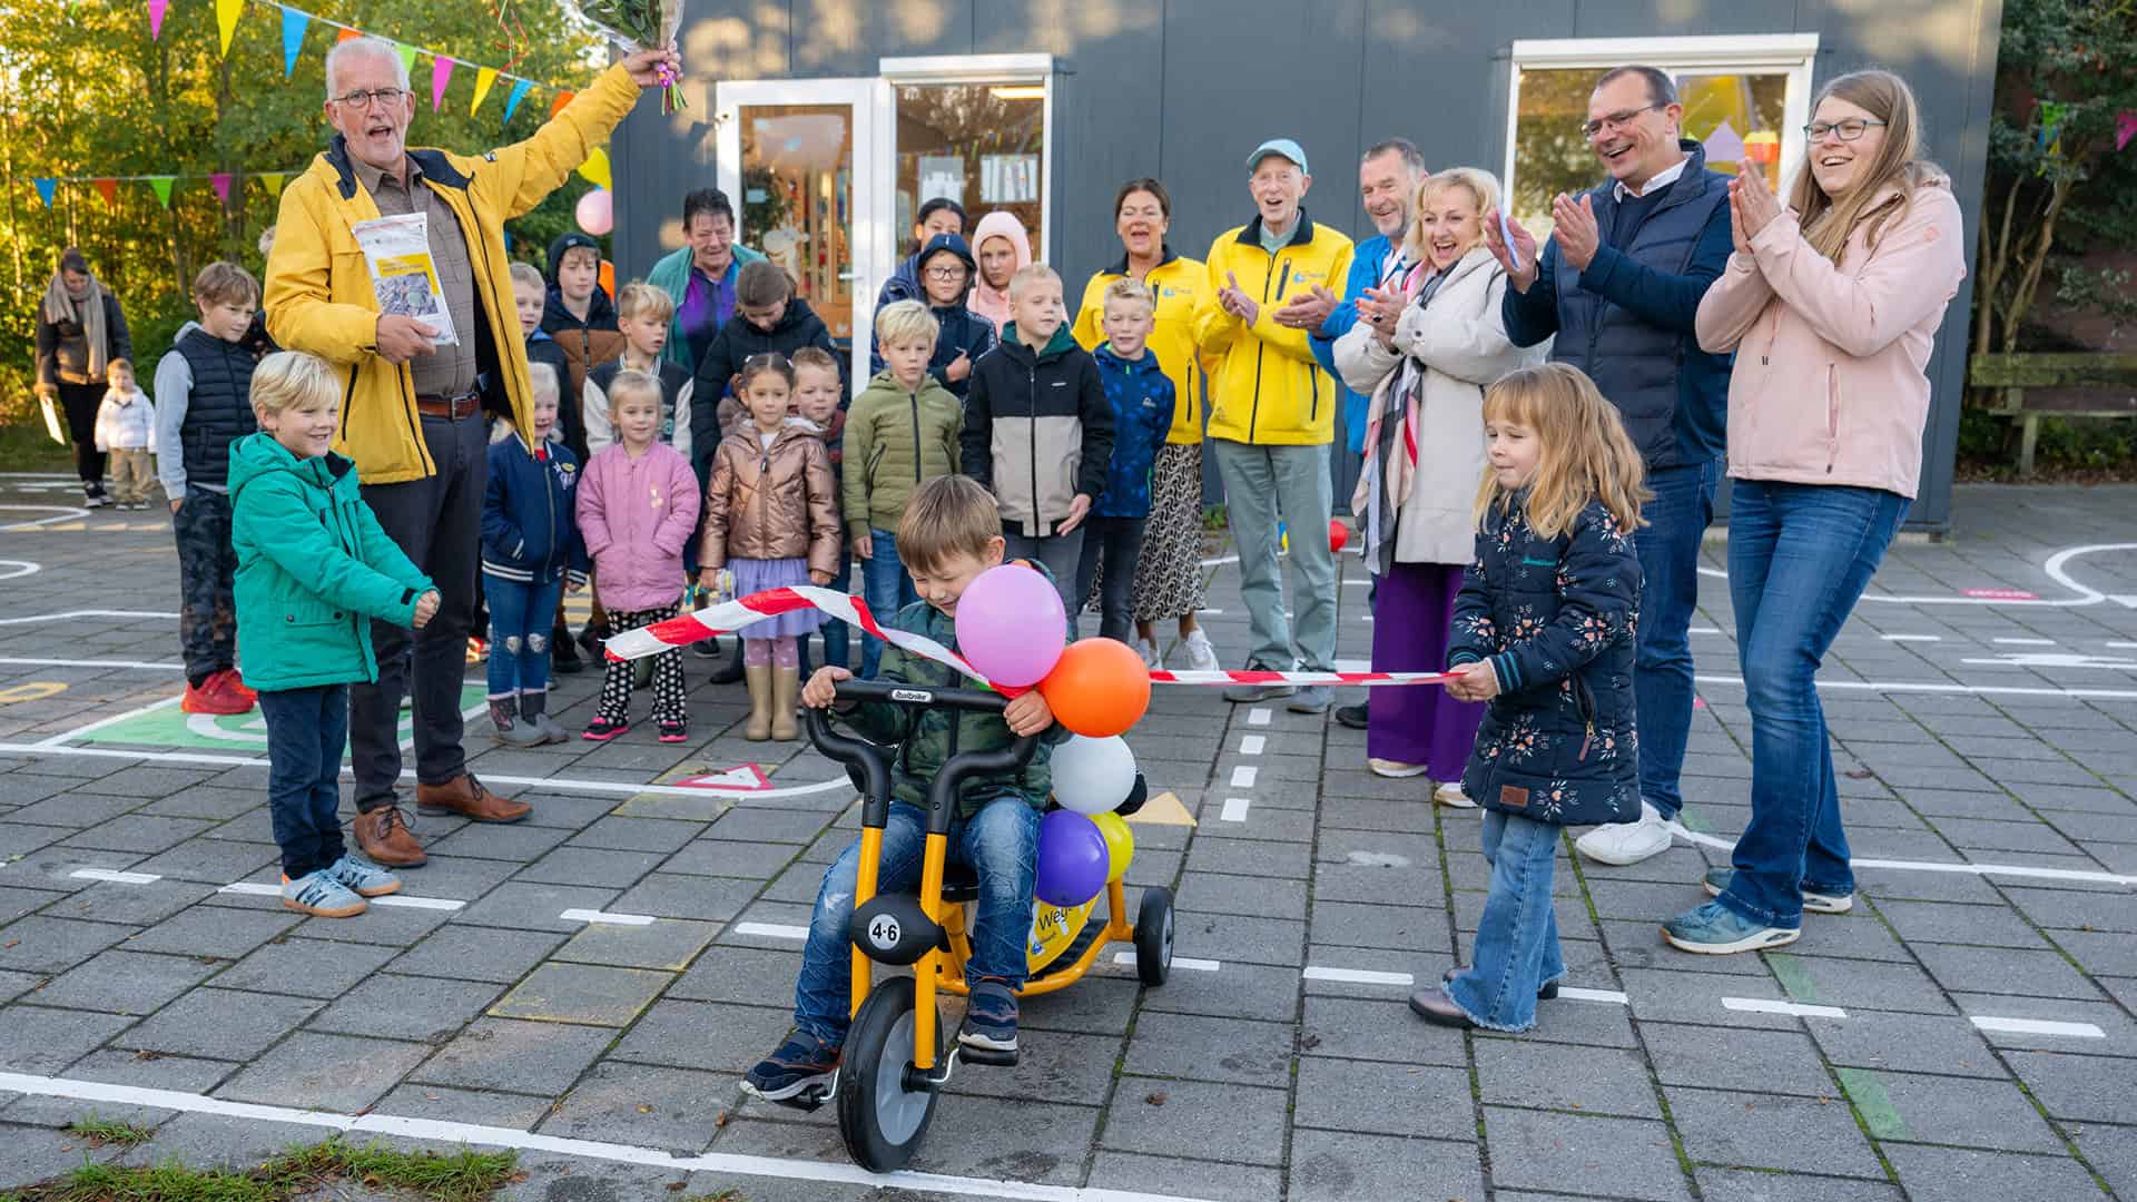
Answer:
[[[1233, 443], [1316, 445], [1336, 436], [1336, 381], [1314, 361], [1306, 329], [1276, 323], [1276, 310], [1321, 284], [1342, 295], [1351, 240], [1299, 212], [1276, 255], [1261, 248], [1261, 218], [1210, 244], [1210, 287], [1195, 304], [1195, 342], [1216, 359], [1210, 374], [1210, 436]], [[1261, 304], [1254, 325], [1216, 304], [1227, 276]]]

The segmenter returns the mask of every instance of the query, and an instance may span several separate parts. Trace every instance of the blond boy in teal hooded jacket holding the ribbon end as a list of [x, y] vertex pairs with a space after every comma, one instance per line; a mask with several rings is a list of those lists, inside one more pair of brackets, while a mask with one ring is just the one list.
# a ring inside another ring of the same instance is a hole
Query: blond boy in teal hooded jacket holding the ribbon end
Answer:
[[342, 847], [348, 684], [378, 680], [372, 620], [423, 629], [438, 590], [378, 526], [357, 464], [331, 451], [342, 387], [325, 359], [280, 351], [252, 372], [261, 432], [231, 445], [237, 637], [267, 719], [267, 804], [282, 905], [355, 918], [400, 890]]

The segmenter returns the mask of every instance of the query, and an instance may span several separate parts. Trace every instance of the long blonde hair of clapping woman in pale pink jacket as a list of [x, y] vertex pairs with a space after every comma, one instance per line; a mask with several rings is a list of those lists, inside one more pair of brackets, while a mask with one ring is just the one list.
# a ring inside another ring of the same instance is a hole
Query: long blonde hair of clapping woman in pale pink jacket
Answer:
[[[1870, 222], [1863, 244], [1876, 248], [1885, 227], [1906, 216], [1915, 203], [1915, 190], [1945, 180], [1945, 171], [1921, 156], [1921, 107], [1915, 105], [1915, 90], [1891, 71], [1853, 71], [1819, 90], [1810, 111], [1816, 113], [1827, 96], [1846, 101], [1872, 118], [1885, 122], [1885, 143], [1855, 175], [1855, 186], [1838, 197], [1827, 197], [1810, 173], [1810, 156], [1816, 145], [1806, 148], [1804, 167], [1789, 188], [1789, 205], [1804, 227], [1804, 240], [1819, 255], [1840, 263], [1849, 235], [1857, 225]], [[1883, 197], [1885, 188], [1898, 188], [1898, 197]]]

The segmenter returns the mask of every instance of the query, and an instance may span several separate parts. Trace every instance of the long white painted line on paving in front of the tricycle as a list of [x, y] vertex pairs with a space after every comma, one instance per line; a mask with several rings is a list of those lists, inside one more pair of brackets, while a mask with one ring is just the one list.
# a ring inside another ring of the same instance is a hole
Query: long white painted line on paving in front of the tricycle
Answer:
[[[1175, 960], [1177, 962], [1177, 960]], [[562, 1136], [536, 1136], [515, 1127], [489, 1127], [483, 1123], [449, 1123], [444, 1119], [408, 1119], [400, 1114], [331, 1114], [327, 1110], [293, 1110], [286, 1106], [263, 1106], [256, 1101], [229, 1101], [201, 1093], [180, 1093], [175, 1089], [145, 1089], [137, 1084], [105, 1084], [94, 1080], [68, 1080], [51, 1076], [30, 1076], [0, 1072], [0, 1091], [30, 1093], [38, 1097], [73, 1097], [77, 1101], [103, 1101], [107, 1106], [152, 1106], [190, 1114], [218, 1114], [224, 1119], [250, 1119], [256, 1123], [288, 1123], [297, 1127], [323, 1127], [329, 1131], [353, 1131], [374, 1136], [406, 1136], [415, 1140], [438, 1140], [447, 1144], [477, 1144], [492, 1149], [517, 1149], [528, 1153], [553, 1153], [613, 1164], [639, 1164], [662, 1172], [727, 1172], [735, 1176], [763, 1176], [771, 1181], [825, 1181], [833, 1185], [891, 1187], [919, 1193], [949, 1193], [955, 1198], [1007, 1198], [1011, 1202], [1201, 1202], [1173, 1193], [1145, 1193], [1139, 1189], [1096, 1189], [1075, 1185], [1039, 1185], [1030, 1181], [996, 1181], [985, 1176], [951, 1176], [940, 1172], [887, 1172], [874, 1174], [857, 1164], [812, 1161], [789, 1157], [754, 1157], [737, 1153], [675, 1155], [660, 1149], [633, 1144], [607, 1144], [598, 1140], [568, 1140]]]

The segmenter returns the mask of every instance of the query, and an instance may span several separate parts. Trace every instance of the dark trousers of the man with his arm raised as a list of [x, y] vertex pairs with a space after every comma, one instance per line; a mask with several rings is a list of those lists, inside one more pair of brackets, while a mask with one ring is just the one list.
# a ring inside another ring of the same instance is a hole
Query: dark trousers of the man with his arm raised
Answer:
[[378, 682], [348, 689], [348, 746], [357, 808], [365, 813], [393, 804], [402, 770], [395, 723], [404, 693], [415, 697], [415, 779], [444, 785], [468, 770], [459, 749], [459, 687], [468, 674], [474, 577], [483, 558], [489, 434], [481, 415], [459, 421], [425, 417], [423, 441], [438, 475], [363, 486], [363, 500], [387, 537], [438, 584], [438, 614], [421, 631], [372, 622]]

